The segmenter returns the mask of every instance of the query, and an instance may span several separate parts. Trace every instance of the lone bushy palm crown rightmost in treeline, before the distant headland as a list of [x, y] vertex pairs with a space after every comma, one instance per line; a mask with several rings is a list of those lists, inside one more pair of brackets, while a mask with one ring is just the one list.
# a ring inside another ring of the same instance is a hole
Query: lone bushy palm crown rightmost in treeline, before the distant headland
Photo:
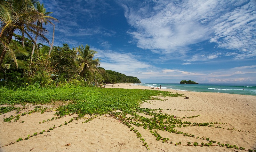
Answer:
[[80, 76], [83, 76], [86, 70], [91, 72], [99, 71], [97, 67], [100, 66], [100, 59], [99, 58], [93, 59], [96, 53], [97, 52], [94, 50], [91, 50], [90, 46], [88, 46], [87, 44], [85, 47], [83, 45], [78, 47], [78, 55], [77, 55], [76, 62], [79, 65]]

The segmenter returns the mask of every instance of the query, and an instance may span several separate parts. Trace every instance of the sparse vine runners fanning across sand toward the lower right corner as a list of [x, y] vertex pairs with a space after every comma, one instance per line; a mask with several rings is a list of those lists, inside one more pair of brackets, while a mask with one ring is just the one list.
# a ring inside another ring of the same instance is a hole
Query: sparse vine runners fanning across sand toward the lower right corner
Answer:
[[[158, 112], [153, 112], [153, 111], [159, 111]], [[176, 117], [175, 115], [168, 115], [166, 113], [160, 113], [162, 112], [163, 109], [148, 109], [148, 108], [137, 108], [136, 111], [123, 111], [123, 112], [111, 112], [110, 115], [113, 118], [118, 119], [119, 121], [121, 121], [124, 125], [126, 125], [127, 127], [129, 127], [131, 130], [135, 130], [136, 134], [138, 136], [138, 134], [140, 134], [138, 132], [138, 130], [134, 129], [134, 127], [143, 127], [145, 130], [149, 130], [149, 133], [151, 133], [153, 136], [156, 137], [156, 140], [159, 141], [161, 140], [163, 143], [168, 143], [168, 144], [172, 144], [172, 145], [180, 145], [180, 146], [198, 146], [200, 145], [201, 147], [203, 146], [218, 146], [218, 147], [226, 147], [226, 148], [235, 148], [235, 149], [239, 149], [239, 150], [245, 150], [245, 151], [250, 151], [250, 152], [255, 152], [255, 149], [245, 149], [244, 147], [238, 147], [235, 144], [234, 145], [230, 145], [228, 143], [220, 143], [218, 141], [214, 141], [214, 140], [210, 140], [209, 138], [204, 138], [204, 137], [199, 137], [199, 136], [195, 136], [194, 134], [188, 134], [188, 133], [184, 133], [181, 131], [178, 131], [177, 129], [174, 128], [180, 128], [180, 127], [191, 127], [191, 126], [206, 126], [206, 127], [214, 127], [213, 124], [222, 124], [222, 125], [227, 125], [228, 123], [218, 123], [218, 122], [204, 122], [204, 123], [196, 123], [196, 122], [190, 122], [190, 121], [182, 121], [182, 119], [184, 119], [185, 117]], [[153, 116], [151, 118], [146, 118], [141, 116], [140, 114], [147, 114], [148, 116]], [[127, 118], [127, 115], [130, 115], [131, 117]], [[195, 117], [199, 117], [201, 115], [196, 115], [196, 116], [191, 116], [191, 117], [186, 117], [188, 119], [190, 118], [195, 118]], [[134, 127], [133, 127], [134, 126]], [[215, 127], [215, 128], [222, 128], [222, 127]], [[229, 129], [229, 128], [223, 128], [223, 129], [228, 129], [228, 130], [235, 130], [235, 128]], [[161, 130], [161, 131], [167, 131], [170, 133], [174, 133], [174, 134], [183, 134], [184, 136], [188, 136], [191, 138], [196, 138], [196, 139], [201, 139], [203, 141], [208, 141], [208, 142], [201, 142], [200, 144], [198, 142], [187, 142], [186, 144], [181, 144], [181, 142], [172, 142], [169, 141], [170, 139], [168, 137], [162, 137], [160, 134], [157, 133], [157, 130]], [[246, 131], [241, 131], [241, 130], [235, 130], [235, 131], [239, 131], [239, 132], [246, 132]], [[141, 138], [141, 134], [139, 136], [140, 140], [142, 140]], [[143, 139], [143, 143], [144, 143], [144, 139]], [[144, 144], [145, 145], [145, 144]], [[146, 147], [147, 150], [149, 150], [148, 148], [148, 144]]]

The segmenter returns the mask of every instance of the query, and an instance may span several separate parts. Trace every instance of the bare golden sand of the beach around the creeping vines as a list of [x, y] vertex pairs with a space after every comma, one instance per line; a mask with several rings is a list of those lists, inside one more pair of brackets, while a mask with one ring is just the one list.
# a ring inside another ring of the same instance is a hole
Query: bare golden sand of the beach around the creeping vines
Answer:
[[[151, 89], [146, 86], [132, 85], [128, 83], [118, 83], [106, 85], [106, 88], [125, 88], [125, 89]], [[104, 89], [104, 88], [103, 88]], [[156, 89], [152, 89], [156, 90]], [[196, 137], [209, 138], [220, 143], [228, 143], [245, 149], [256, 149], [256, 99], [255, 96], [236, 95], [224, 93], [204, 93], [204, 92], [185, 92], [170, 89], [160, 89], [173, 93], [184, 94], [184, 97], [159, 97], [164, 101], [152, 100], [150, 103], [144, 102], [140, 107], [158, 109], [163, 108], [163, 113], [172, 114], [177, 117], [185, 117], [182, 121], [197, 123], [217, 122], [215, 127], [192, 126], [175, 128], [181, 132], [193, 134]], [[185, 99], [185, 96], [189, 99]], [[56, 104], [57, 105], [57, 104]], [[42, 105], [44, 107], [56, 107], [56, 105]], [[3, 105], [4, 106], [4, 105]], [[27, 105], [27, 108], [20, 112], [28, 112], [36, 105]], [[167, 110], [168, 109], [168, 110]], [[121, 123], [118, 119], [110, 115], [97, 116], [87, 123], [87, 119], [93, 117], [85, 115], [83, 119], [74, 120], [67, 125], [75, 115], [66, 116], [60, 119], [51, 120], [55, 111], [46, 111], [43, 114], [34, 112], [25, 116], [20, 116], [17, 122], [6, 123], [4, 118], [17, 115], [16, 111], [7, 112], [0, 115], [0, 152], [11, 151], [89, 151], [89, 152], [144, 152], [147, 151], [143, 143], [137, 138], [136, 134]], [[188, 119], [187, 117], [197, 116]], [[47, 121], [49, 119], [49, 121]], [[43, 121], [46, 122], [43, 123]], [[40, 123], [41, 122], [41, 123]], [[61, 127], [57, 127], [63, 124]], [[25, 139], [28, 135], [49, 130], [50, 132], [37, 134], [28, 140], [15, 142], [17, 139]], [[218, 126], [218, 128], [217, 128]], [[203, 146], [202, 139], [191, 138], [183, 134], [174, 134], [167, 131], [158, 131], [163, 137], [168, 137], [172, 142], [181, 142], [181, 145], [162, 143], [157, 141], [149, 130], [143, 127], [134, 126], [145, 142], [148, 143], [149, 151], [152, 152], [215, 152], [215, 151], [245, 151], [235, 148], [225, 148], [218, 146]], [[234, 128], [234, 129], [233, 129]], [[8, 145], [9, 143], [15, 142]], [[198, 142], [198, 146], [184, 146], [187, 142]], [[8, 146], [4, 146], [4, 145]], [[3, 146], [3, 147], [2, 147]]]

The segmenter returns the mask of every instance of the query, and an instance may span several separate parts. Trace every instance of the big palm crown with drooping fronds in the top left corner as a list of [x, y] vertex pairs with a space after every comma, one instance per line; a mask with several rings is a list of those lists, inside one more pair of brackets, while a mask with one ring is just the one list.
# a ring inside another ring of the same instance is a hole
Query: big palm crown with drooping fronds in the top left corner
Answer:
[[48, 31], [34, 24], [42, 16], [34, 7], [36, 2], [36, 0], [0, 0], [0, 65], [6, 54], [12, 54], [14, 59], [14, 52], [10, 47], [14, 31], [22, 33], [23, 39], [26, 35], [34, 43], [31, 34], [38, 34], [40, 39], [49, 41], [44, 36]]

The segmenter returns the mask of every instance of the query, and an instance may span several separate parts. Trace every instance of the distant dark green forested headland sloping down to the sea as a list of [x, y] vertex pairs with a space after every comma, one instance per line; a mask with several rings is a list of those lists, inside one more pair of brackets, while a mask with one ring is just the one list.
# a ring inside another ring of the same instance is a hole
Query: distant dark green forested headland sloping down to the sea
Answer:
[[99, 68], [100, 73], [104, 78], [104, 83], [141, 83], [137, 77], [134, 76], [126, 76], [122, 73], [105, 70], [103, 68]]

